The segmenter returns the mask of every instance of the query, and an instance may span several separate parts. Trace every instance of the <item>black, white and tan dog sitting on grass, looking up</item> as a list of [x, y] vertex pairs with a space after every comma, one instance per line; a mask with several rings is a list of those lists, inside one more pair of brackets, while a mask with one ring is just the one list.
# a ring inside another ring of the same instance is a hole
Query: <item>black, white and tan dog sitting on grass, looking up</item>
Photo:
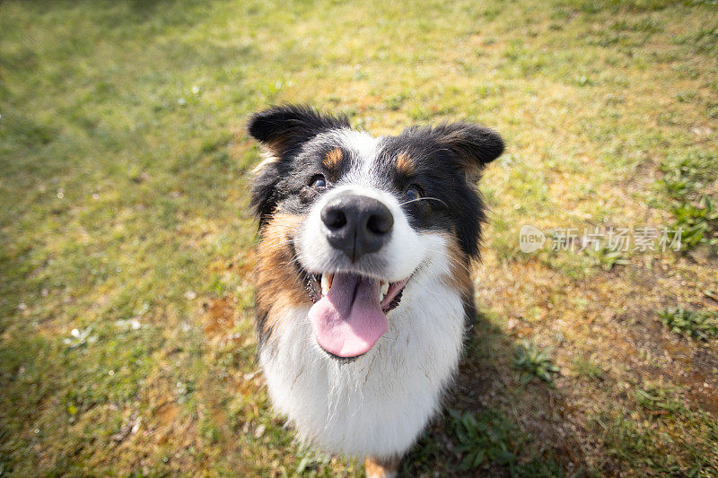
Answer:
[[303, 443], [393, 476], [458, 368], [486, 219], [475, 186], [503, 140], [467, 122], [375, 138], [295, 105], [248, 132], [272, 404]]

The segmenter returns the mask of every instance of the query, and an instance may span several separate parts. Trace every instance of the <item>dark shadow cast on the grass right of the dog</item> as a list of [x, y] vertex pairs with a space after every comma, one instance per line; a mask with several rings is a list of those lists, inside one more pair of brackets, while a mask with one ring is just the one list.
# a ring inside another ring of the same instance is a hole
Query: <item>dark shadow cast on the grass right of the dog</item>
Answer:
[[522, 384], [517, 343], [486, 316], [468, 334], [460, 372], [444, 412], [404, 460], [401, 475], [591, 475], [564, 420], [554, 387]]

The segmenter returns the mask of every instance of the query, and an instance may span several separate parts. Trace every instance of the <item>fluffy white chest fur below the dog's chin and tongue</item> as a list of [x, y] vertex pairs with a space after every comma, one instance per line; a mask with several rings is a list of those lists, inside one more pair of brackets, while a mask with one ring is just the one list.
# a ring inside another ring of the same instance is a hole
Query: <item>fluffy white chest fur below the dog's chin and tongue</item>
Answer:
[[412, 278], [387, 333], [353, 362], [339, 363], [315, 343], [308, 307], [287, 311], [259, 361], [276, 410], [299, 439], [349, 456], [411, 447], [460, 358], [463, 304], [459, 291], [437, 280], [448, 276], [448, 265], [441, 268]]

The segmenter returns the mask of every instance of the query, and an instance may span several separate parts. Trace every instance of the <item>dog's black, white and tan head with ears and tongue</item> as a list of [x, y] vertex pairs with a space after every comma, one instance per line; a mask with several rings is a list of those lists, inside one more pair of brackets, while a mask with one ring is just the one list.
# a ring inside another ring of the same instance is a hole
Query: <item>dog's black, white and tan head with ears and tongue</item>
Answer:
[[503, 151], [495, 132], [455, 123], [373, 138], [302, 107], [258, 113], [249, 132], [265, 153], [252, 185], [261, 339], [305, 303], [322, 349], [363, 355], [417, 274], [477, 256], [472, 178]]

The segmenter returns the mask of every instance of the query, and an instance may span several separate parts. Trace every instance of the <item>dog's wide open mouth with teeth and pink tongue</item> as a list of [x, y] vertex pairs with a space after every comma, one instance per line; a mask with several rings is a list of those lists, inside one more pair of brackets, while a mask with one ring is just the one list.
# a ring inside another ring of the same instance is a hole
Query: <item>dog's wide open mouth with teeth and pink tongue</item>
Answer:
[[309, 311], [317, 343], [331, 355], [354, 358], [387, 331], [387, 314], [396, 309], [409, 278], [381, 281], [353, 273], [308, 274]]

